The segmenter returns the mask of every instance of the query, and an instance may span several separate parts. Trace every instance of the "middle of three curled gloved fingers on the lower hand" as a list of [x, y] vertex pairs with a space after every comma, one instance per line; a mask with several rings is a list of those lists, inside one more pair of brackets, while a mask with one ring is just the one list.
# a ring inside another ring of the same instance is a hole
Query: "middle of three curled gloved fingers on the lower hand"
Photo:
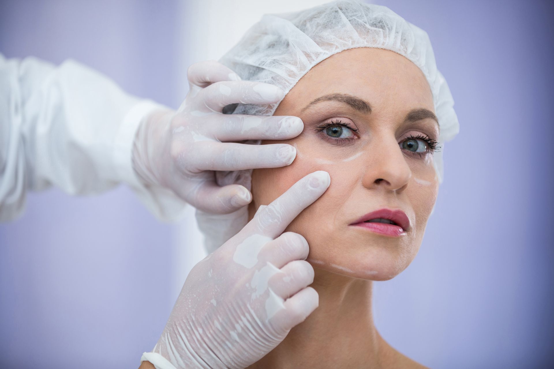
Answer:
[[304, 260], [295, 260], [269, 278], [268, 286], [280, 298], [288, 299], [314, 283], [314, 268]]

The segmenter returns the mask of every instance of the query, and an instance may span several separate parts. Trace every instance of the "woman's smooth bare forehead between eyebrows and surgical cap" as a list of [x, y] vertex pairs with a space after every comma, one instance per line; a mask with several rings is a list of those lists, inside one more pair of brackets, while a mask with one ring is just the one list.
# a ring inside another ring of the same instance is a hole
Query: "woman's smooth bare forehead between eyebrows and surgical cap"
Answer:
[[301, 109], [314, 98], [335, 92], [361, 97], [377, 110], [434, 111], [423, 72], [404, 56], [376, 48], [350, 49], [330, 56], [307, 72], [282, 104]]

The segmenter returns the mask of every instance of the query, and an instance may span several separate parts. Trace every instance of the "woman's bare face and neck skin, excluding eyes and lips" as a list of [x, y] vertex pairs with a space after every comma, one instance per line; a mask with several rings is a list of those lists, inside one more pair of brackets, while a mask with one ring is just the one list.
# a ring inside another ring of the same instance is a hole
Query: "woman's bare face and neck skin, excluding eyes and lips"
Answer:
[[[371, 101], [371, 113], [329, 97], [337, 94]], [[314, 267], [311, 287], [319, 293], [319, 307], [250, 368], [326, 368], [330, 358], [335, 367], [422, 367], [379, 335], [372, 281], [394, 278], [412, 262], [437, 198], [433, 155], [420, 157], [399, 145], [418, 134], [438, 139], [437, 122], [424, 109], [433, 112], [434, 104], [419, 68], [393, 51], [370, 48], [325, 59], [281, 101], [274, 115], [298, 116], [305, 129], [293, 139], [263, 144], [288, 143], [302, 155], [288, 167], [253, 170], [249, 218], [307, 173], [329, 172], [329, 189], [285, 230], [309, 243], [306, 260]], [[406, 120], [411, 113], [416, 117], [415, 111], [423, 120]], [[358, 129], [357, 138], [337, 144], [325, 130], [316, 130], [337, 121]], [[421, 186], [416, 178], [430, 185]], [[350, 226], [383, 208], [406, 212], [411, 230], [389, 237]]]

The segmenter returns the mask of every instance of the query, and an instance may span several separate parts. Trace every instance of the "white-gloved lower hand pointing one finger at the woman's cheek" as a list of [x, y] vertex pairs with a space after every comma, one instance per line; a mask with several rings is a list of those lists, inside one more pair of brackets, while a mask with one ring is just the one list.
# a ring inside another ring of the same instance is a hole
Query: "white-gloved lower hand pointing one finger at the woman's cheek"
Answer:
[[152, 351], [158, 355], [142, 359], [158, 369], [245, 368], [283, 341], [319, 296], [306, 287], [314, 269], [305, 238], [281, 233], [329, 184], [325, 171], [306, 175], [196, 264]]

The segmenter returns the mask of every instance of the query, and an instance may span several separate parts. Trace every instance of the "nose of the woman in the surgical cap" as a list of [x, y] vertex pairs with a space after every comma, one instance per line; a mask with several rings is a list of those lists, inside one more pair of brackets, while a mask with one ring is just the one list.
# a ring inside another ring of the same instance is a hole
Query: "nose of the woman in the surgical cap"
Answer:
[[412, 170], [398, 143], [392, 139], [370, 144], [362, 185], [367, 189], [401, 192], [406, 189]]

